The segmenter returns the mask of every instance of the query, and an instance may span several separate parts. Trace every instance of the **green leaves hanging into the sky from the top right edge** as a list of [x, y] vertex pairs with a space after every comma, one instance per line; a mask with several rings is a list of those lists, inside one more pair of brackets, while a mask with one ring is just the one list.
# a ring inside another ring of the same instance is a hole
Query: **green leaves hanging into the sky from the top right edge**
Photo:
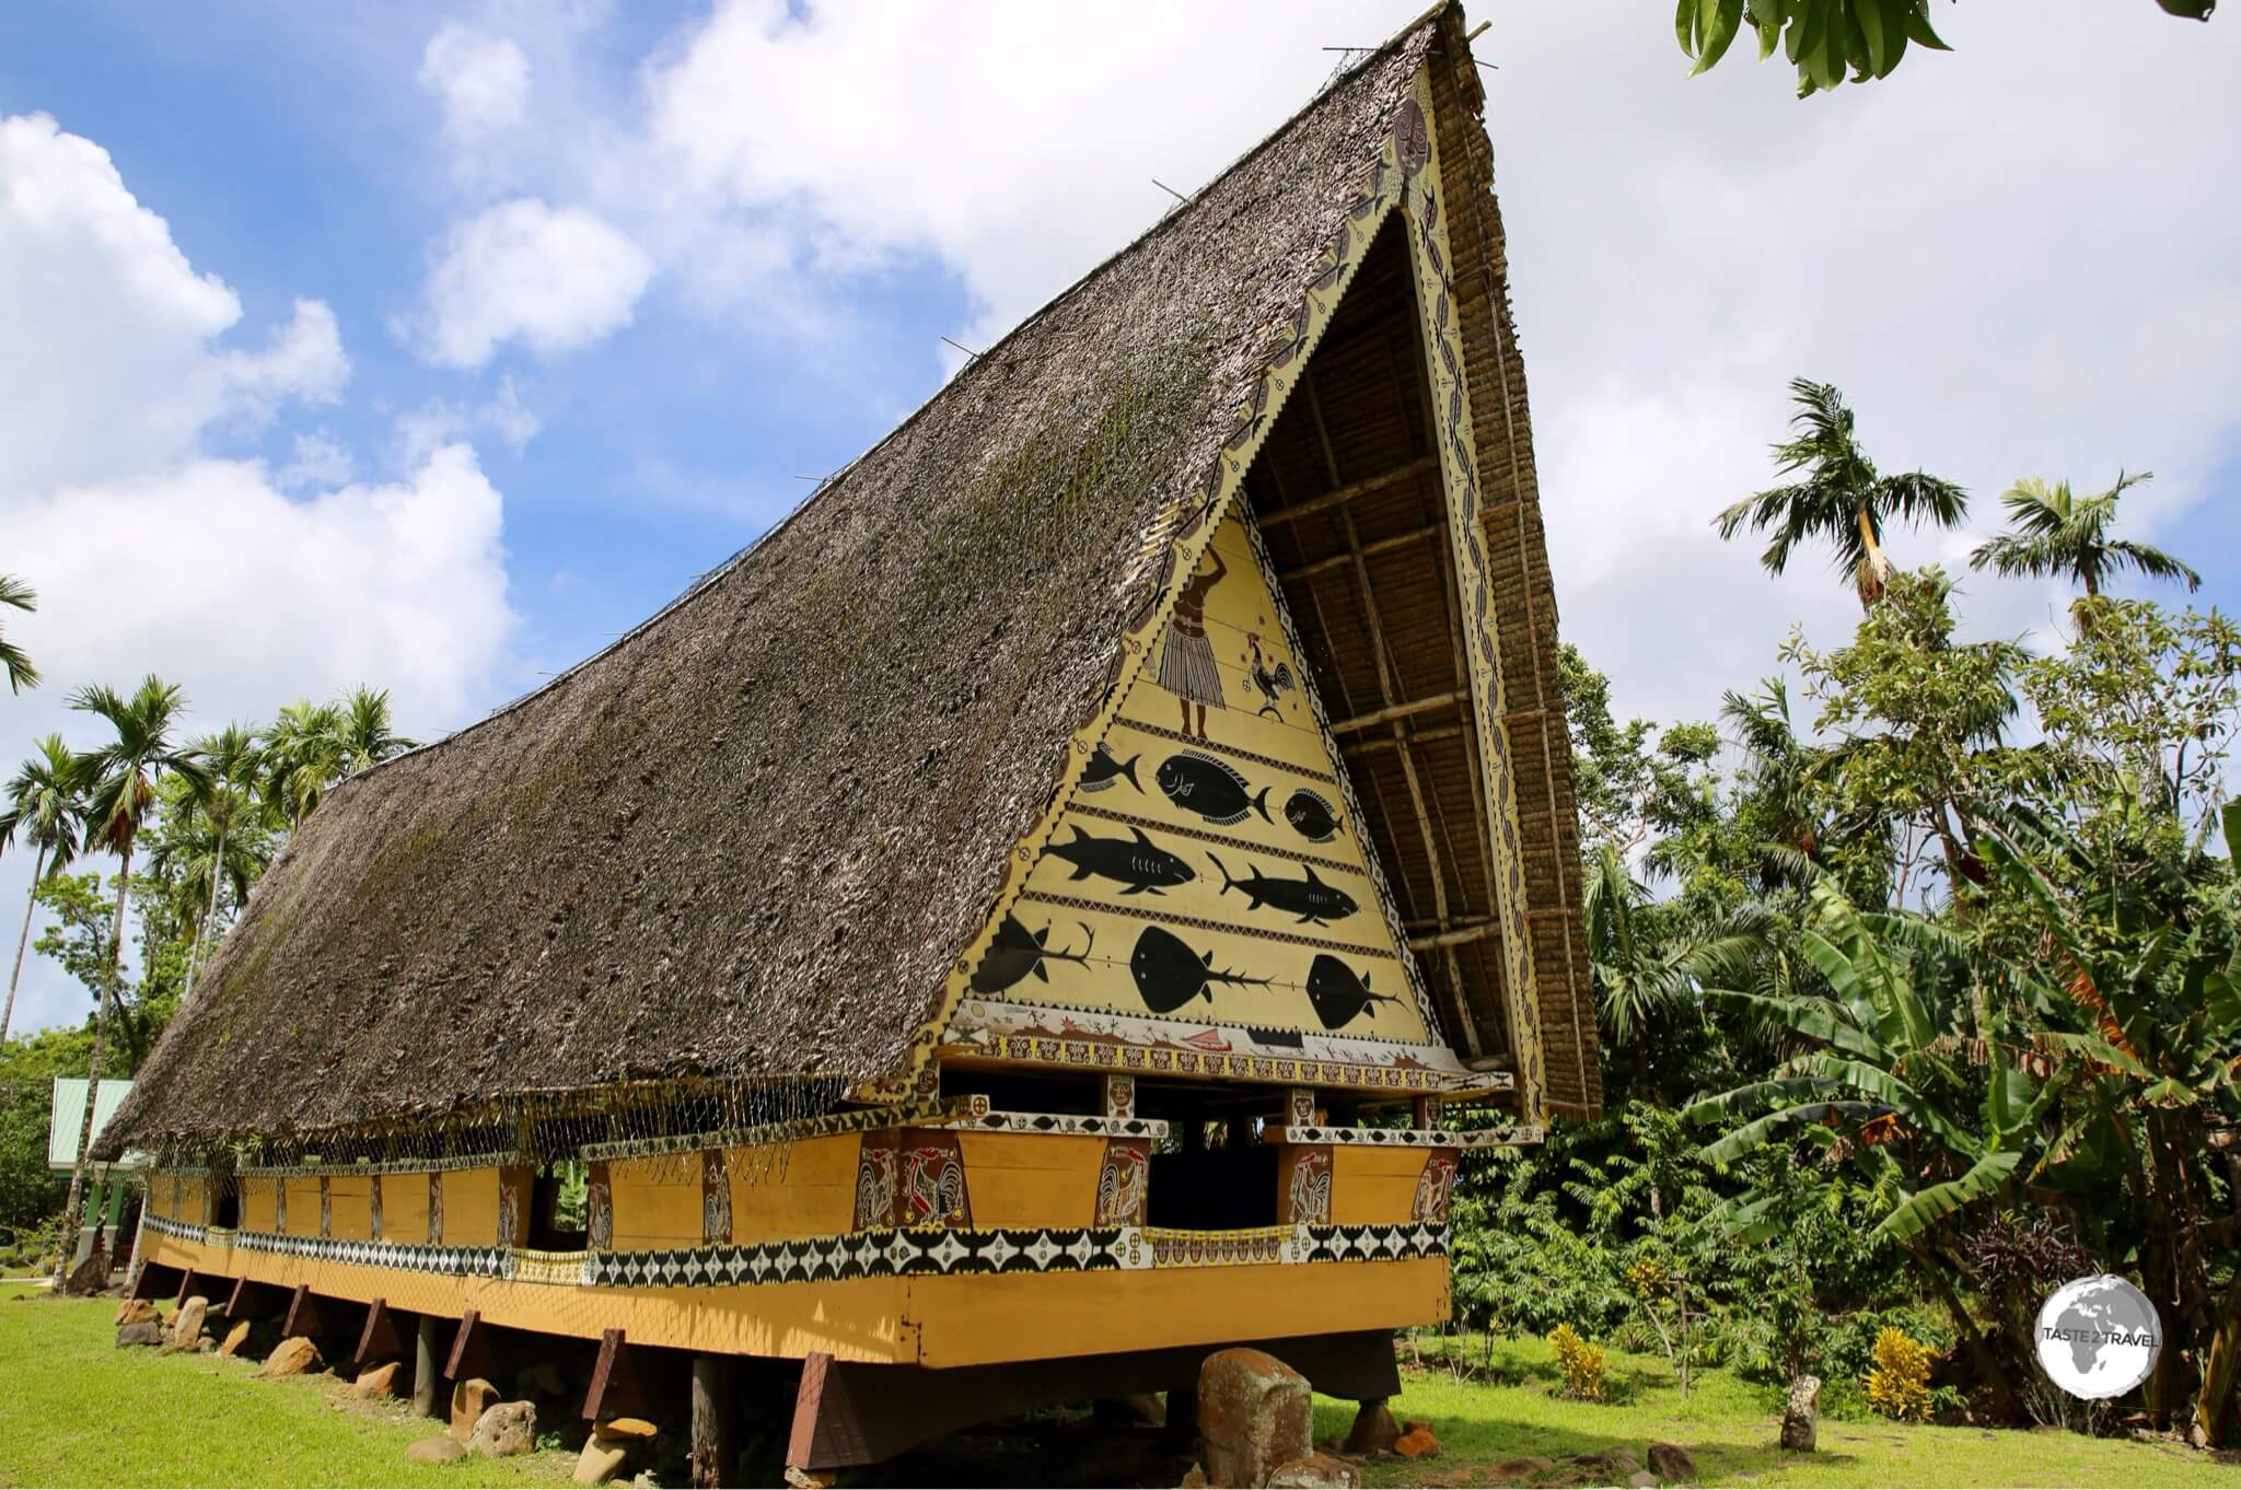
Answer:
[[[2156, 0], [2163, 11], [2210, 20], [2216, 0]], [[1674, 16], [1681, 52], [1703, 72], [1755, 31], [1759, 60], [1782, 49], [1797, 67], [1797, 96], [1887, 78], [1909, 47], [1952, 52], [1930, 25], [1930, 0], [1681, 0]], [[1694, 76], [1694, 74], [1692, 74]]]

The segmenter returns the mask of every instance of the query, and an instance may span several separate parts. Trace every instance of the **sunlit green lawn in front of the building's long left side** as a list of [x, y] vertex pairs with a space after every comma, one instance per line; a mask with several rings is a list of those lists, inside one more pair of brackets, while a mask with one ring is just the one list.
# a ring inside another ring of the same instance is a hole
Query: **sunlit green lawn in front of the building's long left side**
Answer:
[[114, 1300], [0, 1284], [0, 1486], [554, 1486], [576, 1463], [406, 1463], [439, 1423], [336, 1400], [332, 1376], [251, 1380], [251, 1360], [121, 1351], [114, 1315]]

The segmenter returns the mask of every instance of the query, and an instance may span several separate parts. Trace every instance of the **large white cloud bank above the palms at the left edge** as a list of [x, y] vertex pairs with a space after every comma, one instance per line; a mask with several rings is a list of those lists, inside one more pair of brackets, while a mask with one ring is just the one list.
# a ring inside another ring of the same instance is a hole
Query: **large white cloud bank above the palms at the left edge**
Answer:
[[[289, 401], [341, 397], [325, 302], [296, 300], [258, 350], [222, 345], [233, 291], [105, 150], [45, 117], [0, 121], [0, 565], [38, 589], [9, 639], [47, 677], [7, 704], [13, 739], [90, 744], [69, 692], [146, 672], [186, 690], [190, 730], [370, 681], [433, 735], [491, 697], [513, 614], [473, 448], [437, 441], [388, 484], [350, 484], [327, 432], [298, 435], [278, 475], [213, 453]], [[27, 869], [0, 856], [0, 903], [20, 905]], [[25, 968], [18, 1028], [81, 1008], [52, 966]]]

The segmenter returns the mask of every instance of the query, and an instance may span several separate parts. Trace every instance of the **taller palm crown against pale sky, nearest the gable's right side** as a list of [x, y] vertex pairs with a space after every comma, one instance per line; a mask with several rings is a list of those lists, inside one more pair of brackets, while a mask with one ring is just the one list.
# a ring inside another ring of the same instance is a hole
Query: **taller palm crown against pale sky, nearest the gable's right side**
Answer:
[[1735, 538], [1743, 524], [1770, 531], [1759, 556], [1768, 574], [1782, 574], [1800, 542], [1822, 538], [1835, 547], [1835, 569], [1851, 576], [1867, 609], [1891, 576], [1882, 529], [1894, 520], [1950, 529], [1968, 513], [1968, 493], [1921, 471], [1878, 475], [1835, 385], [1791, 379], [1791, 397], [1795, 437], [1775, 446], [1775, 462], [1782, 475], [1802, 471], [1804, 479], [1743, 497], [1717, 518], [1719, 536]]

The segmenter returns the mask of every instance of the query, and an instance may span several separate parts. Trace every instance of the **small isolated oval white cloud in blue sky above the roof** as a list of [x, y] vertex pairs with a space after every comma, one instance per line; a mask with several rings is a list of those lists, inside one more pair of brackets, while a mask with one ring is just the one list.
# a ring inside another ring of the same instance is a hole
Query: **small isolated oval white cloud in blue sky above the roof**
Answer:
[[585, 347], [630, 325], [654, 264], [603, 217], [515, 197], [453, 226], [424, 291], [428, 361], [480, 367], [500, 345]]

